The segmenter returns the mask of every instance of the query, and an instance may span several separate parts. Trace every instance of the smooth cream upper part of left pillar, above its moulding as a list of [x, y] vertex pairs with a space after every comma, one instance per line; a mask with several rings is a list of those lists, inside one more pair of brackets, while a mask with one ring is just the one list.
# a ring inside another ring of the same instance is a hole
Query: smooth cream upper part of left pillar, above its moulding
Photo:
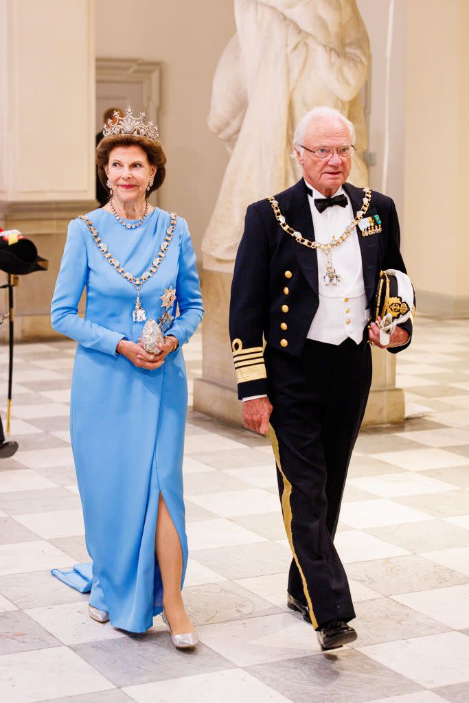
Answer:
[[0, 0], [0, 44], [0, 199], [93, 198], [93, 0]]

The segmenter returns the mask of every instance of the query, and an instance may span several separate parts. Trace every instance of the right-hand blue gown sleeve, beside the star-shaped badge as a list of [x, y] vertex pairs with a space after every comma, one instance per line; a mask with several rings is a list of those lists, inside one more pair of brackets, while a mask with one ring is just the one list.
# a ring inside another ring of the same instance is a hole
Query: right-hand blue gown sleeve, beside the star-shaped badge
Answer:
[[174, 335], [182, 347], [191, 339], [203, 318], [202, 293], [195, 266], [195, 251], [184, 220], [184, 231], [179, 248], [179, 269], [176, 279], [176, 296], [179, 304], [179, 317], [172, 323], [168, 335]]

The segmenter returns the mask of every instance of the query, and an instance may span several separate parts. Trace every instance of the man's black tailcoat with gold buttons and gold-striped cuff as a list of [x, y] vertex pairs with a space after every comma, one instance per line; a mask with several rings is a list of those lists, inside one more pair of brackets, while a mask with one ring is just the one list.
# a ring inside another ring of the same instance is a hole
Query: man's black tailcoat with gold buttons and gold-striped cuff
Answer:
[[[361, 208], [364, 191], [350, 183], [345, 183], [344, 188], [355, 213]], [[275, 197], [287, 224], [304, 237], [314, 240], [304, 180]], [[399, 250], [399, 221], [392, 199], [372, 191], [366, 217], [374, 214], [381, 219], [382, 232], [364, 237], [361, 230], [356, 228], [365, 292], [372, 317], [380, 271], [398, 269], [406, 273]], [[330, 234], [337, 236], [341, 233]], [[285, 311], [285, 306], [288, 311]], [[283, 231], [268, 200], [253, 203], [246, 212], [231, 288], [229, 328], [240, 398], [267, 392], [262, 361], [263, 337], [269, 347], [281, 349], [292, 356], [301, 356], [318, 306], [316, 250], [301, 245]], [[411, 320], [402, 327], [411, 335]], [[409, 344], [410, 338], [403, 347], [394, 347], [389, 351], [399, 352]]]

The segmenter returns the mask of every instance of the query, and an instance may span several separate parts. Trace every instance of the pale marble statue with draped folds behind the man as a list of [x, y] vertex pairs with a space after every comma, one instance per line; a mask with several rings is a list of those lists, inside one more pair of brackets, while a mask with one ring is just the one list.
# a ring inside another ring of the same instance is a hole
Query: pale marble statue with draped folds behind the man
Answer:
[[[214, 75], [209, 127], [231, 159], [202, 248], [233, 261], [250, 202], [300, 177], [293, 131], [317, 105], [338, 108], [366, 148], [359, 91], [368, 76], [368, 34], [355, 0], [235, 0], [237, 32]], [[354, 157], [349, 181], [368, 184]]]

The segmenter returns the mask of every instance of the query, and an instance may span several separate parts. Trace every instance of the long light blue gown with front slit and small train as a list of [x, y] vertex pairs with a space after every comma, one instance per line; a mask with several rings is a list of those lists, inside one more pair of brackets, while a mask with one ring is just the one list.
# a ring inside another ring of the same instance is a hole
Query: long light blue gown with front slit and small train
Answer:
[[[87, 217], [133, 276], [151, 266], [169, 226], [169, 213], [158, 208], [135, 229], [103, 209]], [[162, 316], [161, 296], [169, 286], [176, 289], [180, 314], [167, 334], [177, 337], [179, 347], [161, 368], [137, 368], [115, 352], [122, 338], [137, 342], [141, 335], [144, 323], [132, 318], [136, 290], [105, 260], [84, 222], [70, 222], [51, 319], [55, 330], [78, 342], [70, 433], [92, 564], [52, 573], [72, 588], [91, 591], [90, 605], [129, 632], [150, 628], [162, 611], [155, 557], [160, 493], [181, 541], [181, 587], [187, 565], [182, 460], [188, 392], [181, 347], [198, 327], [203, 307], [191, 236], [179, 217], [164, 261], [141, 289], [147, 318]], [[86, 314], [80, 318], [85, 287]]]

